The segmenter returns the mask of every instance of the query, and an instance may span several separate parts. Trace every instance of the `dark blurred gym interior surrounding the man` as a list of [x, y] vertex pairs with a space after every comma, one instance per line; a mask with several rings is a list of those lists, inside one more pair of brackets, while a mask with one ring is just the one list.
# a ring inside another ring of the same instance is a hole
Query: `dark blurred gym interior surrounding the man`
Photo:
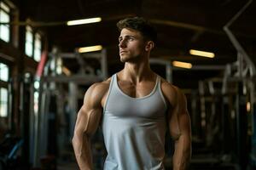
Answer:
[[[1, 170], [79, 169], [72, 139], [84, 93], [123, 68], [116, 23], [133, 16], [158, 31], [152, 70], [187, 97], [189, 169], [256, 168], [255, 1], [1, 0]], [[102, 169], [101, 127], [91, 150]], [[167, 133], [166, 169], [172, 154]]]

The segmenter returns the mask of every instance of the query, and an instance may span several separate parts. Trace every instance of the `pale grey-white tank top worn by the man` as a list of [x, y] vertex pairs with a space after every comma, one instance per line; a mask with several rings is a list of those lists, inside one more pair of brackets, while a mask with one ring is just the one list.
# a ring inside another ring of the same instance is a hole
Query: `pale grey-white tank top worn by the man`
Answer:
[[150, 94], [132, 98], [121, 91], [114, 74], [102, 115], [108, 151], [104, 169], [164, 169], [166, 110], [160, 77]]

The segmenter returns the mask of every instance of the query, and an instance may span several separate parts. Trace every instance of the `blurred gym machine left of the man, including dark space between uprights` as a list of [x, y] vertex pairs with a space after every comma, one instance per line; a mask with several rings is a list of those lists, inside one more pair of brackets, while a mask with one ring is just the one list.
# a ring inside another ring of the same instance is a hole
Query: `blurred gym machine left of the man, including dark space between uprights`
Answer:
[[[31, 151], [33, 167], [39, 167], [41, 158], [45, 156], [63, 156], [69, 159], [73, 157], [73, 154], [67, 156], [68, 153], [63, 148], [71, 144], [79, 101], [84, 98], [84, 92], [79, 91], [79, 86], [89, 86], [108, 77], [106, 49], [100, 53], [79, 54], [78, 52], [61, 53], [57, 48], [53, 48], [48, 56], [42, 77], [34, 79], [38, 88], [33, 90], [34, 93], [38, 93], [38, 99], [33, 101], [34, 104], [38, 104], [38, 111], [34, 111], [32, 117], [34, 120]], [[61, 59], [65, 58], [75, 59], [79, 63], [77, 74], [70, 76], [60, 74], [57, 65], [60, 65]], [[99, 62], [98, 70], [90, 65], [91, 59]], [[97, 154], [102, 154], [96, 151]]]

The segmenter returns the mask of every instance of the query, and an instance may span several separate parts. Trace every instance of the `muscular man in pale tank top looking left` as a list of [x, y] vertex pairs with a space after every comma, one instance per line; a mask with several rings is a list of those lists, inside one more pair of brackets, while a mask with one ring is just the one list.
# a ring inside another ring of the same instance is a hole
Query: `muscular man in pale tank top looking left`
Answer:
[[104, 169], [164, 169], [166, 129], [175, 140], [173, 169], [186, 169], [191, 155], [186, 99], [150, 69], [148, 58], [156, 32], [138, 17], [120, 20], [117, 26], [125, 68], [93, 84], [84, 95], [73, 135], [79, 167], [93, 168], [90, 136], [101, 122], [108, 151]]

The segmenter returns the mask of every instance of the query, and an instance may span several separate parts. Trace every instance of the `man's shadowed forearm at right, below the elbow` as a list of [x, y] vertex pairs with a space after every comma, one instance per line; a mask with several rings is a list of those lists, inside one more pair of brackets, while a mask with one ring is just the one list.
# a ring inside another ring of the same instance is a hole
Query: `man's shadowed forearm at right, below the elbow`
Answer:
[[190, 140], [181, 135], [179, 139], [175, 141], [175, 150], [173, 155], [173, 170], [188, 169], [190, 157]]

